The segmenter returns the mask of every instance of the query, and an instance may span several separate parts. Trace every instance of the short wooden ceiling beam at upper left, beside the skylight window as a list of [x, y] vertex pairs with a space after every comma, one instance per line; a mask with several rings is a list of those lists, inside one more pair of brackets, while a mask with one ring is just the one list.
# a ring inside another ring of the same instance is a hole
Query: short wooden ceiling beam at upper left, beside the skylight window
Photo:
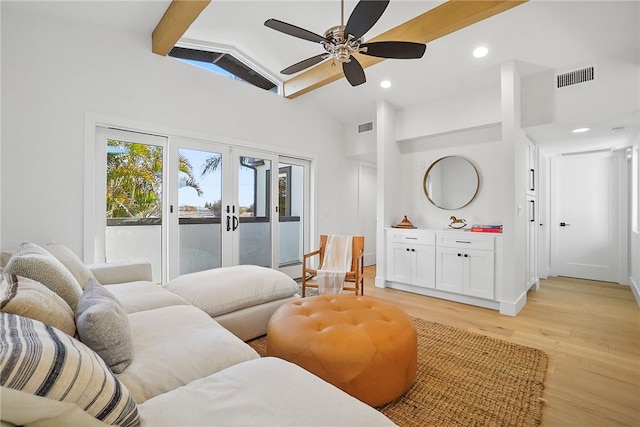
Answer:
[[151, 50], [166, 56], [211, 0], [173, 0], [151, 34]]

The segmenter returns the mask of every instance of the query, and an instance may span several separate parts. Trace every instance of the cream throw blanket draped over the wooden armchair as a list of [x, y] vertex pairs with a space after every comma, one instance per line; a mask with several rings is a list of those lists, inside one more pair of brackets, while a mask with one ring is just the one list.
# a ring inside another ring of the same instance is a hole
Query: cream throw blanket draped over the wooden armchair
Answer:
[[353, 238], [351, 236], [327, 237], [322, 266], [318, 269], [318, 293], [340, 294], [345, 275], [351, 271]]

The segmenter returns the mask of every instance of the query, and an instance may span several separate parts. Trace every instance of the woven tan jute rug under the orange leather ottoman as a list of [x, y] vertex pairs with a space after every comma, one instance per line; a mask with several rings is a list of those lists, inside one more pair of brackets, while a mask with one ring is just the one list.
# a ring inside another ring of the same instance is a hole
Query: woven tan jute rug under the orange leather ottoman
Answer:
[[[537, 426], [547, 355], [535, 348], [423, 319], [418, 372], [400, 398], [378, 407], [399, 426]], [[266, 355], [267, 338], [248, 343]]]

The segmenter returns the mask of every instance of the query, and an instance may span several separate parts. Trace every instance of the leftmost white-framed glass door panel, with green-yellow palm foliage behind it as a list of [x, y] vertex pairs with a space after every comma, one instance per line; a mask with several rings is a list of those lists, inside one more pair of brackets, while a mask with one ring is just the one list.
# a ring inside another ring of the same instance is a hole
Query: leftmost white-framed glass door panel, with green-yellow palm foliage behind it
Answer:
[[166, 137], [96, 129], [94, 261], [145, 259], [166, 277], [167, 160]]

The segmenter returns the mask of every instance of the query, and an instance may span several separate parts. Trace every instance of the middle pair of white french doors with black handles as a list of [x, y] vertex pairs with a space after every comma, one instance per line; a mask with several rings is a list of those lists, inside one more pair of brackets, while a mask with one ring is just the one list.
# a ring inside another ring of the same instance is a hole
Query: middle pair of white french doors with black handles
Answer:
[[239, 264], [272, 267], [277, 157], [171, 138], [169, 280]]

